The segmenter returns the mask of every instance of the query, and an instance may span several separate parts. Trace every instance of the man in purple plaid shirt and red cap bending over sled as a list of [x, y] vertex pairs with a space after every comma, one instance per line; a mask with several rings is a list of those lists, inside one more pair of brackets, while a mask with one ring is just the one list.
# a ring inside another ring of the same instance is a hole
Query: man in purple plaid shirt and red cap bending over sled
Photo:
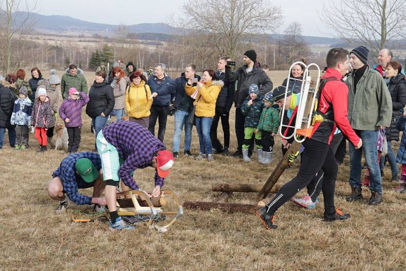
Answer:
[[[110, 212], [110, 229], [133, 229], [121, 220], [117, 213], [116, 187], [119, 180], [133, 190], [140, 189], [131, 172], [136, 169], [153, 167], [155, 187], [149, 196], [159, 196], [164, 178], [170, 173], [175, 159], [166, 150], [165, 144], [154, 137], [142, 125], [131, 121], [114, 122], [101, 130], [96, 146], [102, 158], [103, 179], [106, 181], [106, 201]], [[124, 160], [120, 166], [120, 158]]]

